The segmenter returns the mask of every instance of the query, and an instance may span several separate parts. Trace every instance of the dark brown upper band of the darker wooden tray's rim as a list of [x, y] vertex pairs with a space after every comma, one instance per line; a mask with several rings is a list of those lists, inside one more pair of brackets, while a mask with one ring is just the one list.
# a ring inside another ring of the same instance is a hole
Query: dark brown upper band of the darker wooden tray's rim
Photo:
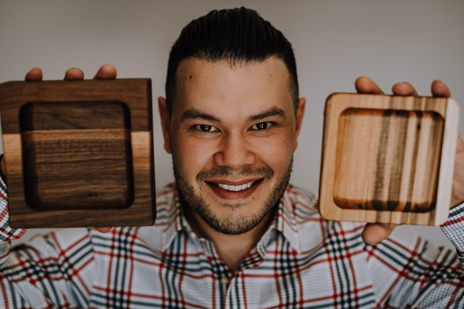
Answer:
[[13, 81], [0, 87], [3, 133], [19, 133], [19, 109], [29, 102], [67, 104], [85, 101], [120, 101], [130, 109], [133, 131], [150, 131], [146, 104], [151, 102], [151, 80], [126, 78], [83, 81]]

